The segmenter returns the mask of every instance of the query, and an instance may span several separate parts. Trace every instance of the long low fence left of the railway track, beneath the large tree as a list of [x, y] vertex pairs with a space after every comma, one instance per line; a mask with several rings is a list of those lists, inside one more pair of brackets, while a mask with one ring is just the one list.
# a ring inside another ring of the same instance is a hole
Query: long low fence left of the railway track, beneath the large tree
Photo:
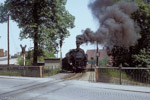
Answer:
[[23, 77], [47, 77], [61, 71], [56, 66], [15, 66], [0, 65], [0, 75], [5, 76], [23, 76]]

